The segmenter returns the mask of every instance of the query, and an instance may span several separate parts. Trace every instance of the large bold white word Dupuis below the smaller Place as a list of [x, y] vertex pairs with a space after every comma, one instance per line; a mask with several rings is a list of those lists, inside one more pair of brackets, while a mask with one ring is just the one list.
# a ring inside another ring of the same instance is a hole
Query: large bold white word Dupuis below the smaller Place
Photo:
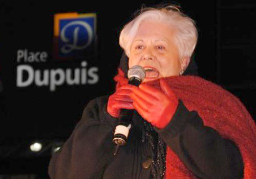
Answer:
[[[19, 54], [21, 57], [21, 55]], [[98, 67], [86, 68], [87, 62], [81, 62], [81, 68], [75, 69], [34, 69], [30, 65], [17, 66], [17, 87], [28, 87], [33, 83], [38, 86], [49, 86], [55, 91], [58, 86], [96, 84], [99, 81]]]

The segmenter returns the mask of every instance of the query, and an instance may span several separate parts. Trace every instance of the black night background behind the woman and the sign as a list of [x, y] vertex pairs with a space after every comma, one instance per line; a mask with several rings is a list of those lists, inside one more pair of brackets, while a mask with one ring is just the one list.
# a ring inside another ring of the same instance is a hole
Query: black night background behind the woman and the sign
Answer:
[[[113, 76], [122, 54], [118, 46], [121, 28], [144, 5], [160, 1], [20, 1], [0, 3], [0, 174], [35, 173], [46, 176], [53, 142], [65, 141], [80, 119], [89, 100], [114, 91]], [[196, 21], [199, 40], [195, 59], [199, 75], [215, 82], [245, 104], [255, 119], [256, 3], [252, 1], [177, 1]], [[97, 13], [97, 54], [85, 57], [99, 67], [96, 85], [16, 87], [18, 49], [46, 51], [46, 63], [39, 69], [74, 68], [82, 59], [56, 60], [52, 56], [53, 15], [56, 13]], [[44, 148], [29, 151], [33, 141]]]

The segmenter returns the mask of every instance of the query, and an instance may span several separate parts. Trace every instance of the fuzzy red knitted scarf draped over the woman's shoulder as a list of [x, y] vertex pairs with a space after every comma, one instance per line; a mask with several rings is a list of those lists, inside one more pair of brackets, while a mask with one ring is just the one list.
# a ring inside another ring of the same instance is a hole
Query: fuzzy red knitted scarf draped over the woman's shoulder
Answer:
[[[116, 88], [127, 84], [118, 69]], [[220, 86], [198, 76], [165, 78], [189, 111], [197, 111], [205, 126], [210, 126], [226, 139], [234, 141], [244, 162], [244, 179], [256, 178], [256, 125], [241, 101]], [[160, 89], [159, 80], [147, 84]], [[161, 89], [160, 89], [161, 90]], [[191, 179], [196, 176], [167, 147], [166, 179]]]

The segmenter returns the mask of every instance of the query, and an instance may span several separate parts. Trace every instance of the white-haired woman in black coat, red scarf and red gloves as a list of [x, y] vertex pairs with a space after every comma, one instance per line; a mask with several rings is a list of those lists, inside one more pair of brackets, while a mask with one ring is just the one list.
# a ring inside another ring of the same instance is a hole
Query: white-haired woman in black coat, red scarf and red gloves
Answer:
[[[116, 92], [90, 101], [52, 157], [51, 178], [256, 178], [254, 121], [236, 97], [191, 73], [192, 19], [173, 6], [148, 8], [119, 42]], [[139, 87], [127, 84], [134, 65], [146, 71]], [[120, 109], [134, 109], [133, 125], [113, 156]]]

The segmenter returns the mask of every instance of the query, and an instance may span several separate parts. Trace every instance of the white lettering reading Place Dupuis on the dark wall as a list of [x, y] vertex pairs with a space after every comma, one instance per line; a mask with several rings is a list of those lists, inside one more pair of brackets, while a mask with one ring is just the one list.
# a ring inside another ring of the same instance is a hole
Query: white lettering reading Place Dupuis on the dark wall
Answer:
[[30, 86], [48, 87], [55, 91], [62, 85], [94, 85], [99, 81], [98, 67], [89, 66], [86, 60], [77, 64], [75, 68], [43, 68], [32, 64], [47, 62], [47, 52], [32, 52], [28, 49], [17, 50], [16, 86], [26, 88]]

